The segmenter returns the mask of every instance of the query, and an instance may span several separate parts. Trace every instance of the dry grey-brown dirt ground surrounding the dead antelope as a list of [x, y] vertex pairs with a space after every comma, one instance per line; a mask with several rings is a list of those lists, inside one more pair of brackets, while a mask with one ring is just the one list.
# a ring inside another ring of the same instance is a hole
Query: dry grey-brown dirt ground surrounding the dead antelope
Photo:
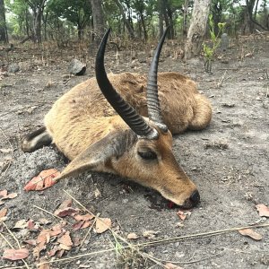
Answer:
[[[5, 248], [10, 248], [6, 241], [18, 248], [6, 229], [8, 227], [22, 246], [30, 248], [30, 256], [26, 259], [28, 265], [36, 263], [32, 247], [23, 240], [36, 239], [39, 232], [13, 230], [13, 226], [22, 219], [39, 221], [46, 218], [51, 223], [43, 224], [39, 229], [53, 227], [59, 220], [50, 213], [69, 198], [66, 191], [93, 213], [110, 218], [112, 230], [122, 238], [126, 239], [127, 234], [135, 232], [139, 238], [128, 240], [133, 245], [210, 233], [140, 247], [145, 255], [141, 256], [134, 249], [120, 250], [120, 246], [125, 247], [126, 243], [115, 239], [110, 231], [97, 234], [91, 230], [91, 236], [88, 235], [82, 247], [72, 247], [62, 256], [71, 259], [51, 264], [50, 268], [161, 268], [160, 263], [164, 265], [168, 261], [185, 269], [269, 268], [268, 227], [254, 229], [263, 237], [259, 241], [244, 237], [238, 231], [214, 233], [268, 223], [268, 219], [259, 217], [256, 212], [256, 204], [269, 204], [268, 44], [269, 37], [232, 41], [231, 48], [213, 63], [213, 74], [204, 73], [202, 59], [183, 64], [177, 57], [180, 52], [177, 44], [170, 42], [162, 51], [159, 70], [191, 76], [199, 91], [203, 91], [213, 104], [213, 120], [208, 128], [174, 137], [178, 162], [201, 194], [201, 203], [185, 221], [178, 218], [178, 208], [170, 209], [168, 202], [158, 193], [108, 174], [88, 172], [63, 179], [42, 192], [25, 192], [23, 186], [30, 178], [43, 169], [61, 170], [66, 161], [54, 146], [32, 153], [22, 152], [22, 136], [42, 125], [42, 118], [58, 97], [94, 75], [94, 63], [85, 48], [60, 51], [50, 47], [23, 47], [8, 54], [3, 52], [0, 58], [3, 65], [0, 81], [0, 190], [7, 189], [18, 196], [0, 205], [0, 210], [8, 209], [4, 221], [6, 226], [2, 225], [0, 230], [0, 256]], [[67, 65], [74, 57], [87, 63], [85, 75], [67, 74]], [[147, 73], [150, 61], [151, 50], [144, 48], [139, 52], [123, 48], [118, 53], [110, 48], [106, 57], [107, 70], [114, 73]], [[4, 75], [4, 68], [11, 62], [18, 63], [21, 71]], [[73, 206], [81, 208], [75, 202]], [[71, 221], [70, 218], [66, 220]], [[74, 231], [67, 224], [65, 230], [70, 230], [75, 241], [83, 239], [88, 229]], [[143, 237], [143, 232], [149, 230], [156, 233], [153, 239]], [[48, 256], [47, 251], [53, 244], [53, 240], [50, 241], [40, 256]], [[103, 251], [115, 246], [117, 250]], [[98, 253], [90, 255], [96, 251]], [[24, 264], [0, 258], [0, 268], [19, 265]]]

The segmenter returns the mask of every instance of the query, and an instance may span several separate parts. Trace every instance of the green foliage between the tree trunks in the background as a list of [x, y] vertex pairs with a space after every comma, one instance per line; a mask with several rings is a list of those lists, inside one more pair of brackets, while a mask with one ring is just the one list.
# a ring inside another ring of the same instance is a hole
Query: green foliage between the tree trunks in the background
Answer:
[[[211, 35], [214, 32], [215, 36], [218, 36], [220, 22], [227, 22], [227, 32], [230, 35], [239, 30], [244, 34], [247, 30], [251, 32], [254, 26], [259, 30], [267, 29], [268, 0], [258, 4], [254, 0], [246, 1], [245, 7], [237, 0], [213, 0]], [[184, 36], [194, 1], [103, 0], [100, 3], [105, 28], [109, 25], [117, 36], [146, 41], [152, 37], [155, 39], [168, 25], [169, 39]], [[33, 39], [37, 31], [42, 37], [39, 42], [62, 39], [62, 36], [65, 36], [65, 39], [89, 39], [94, 30], [91, 0], [6, 0], [4, 4], [8, 13], [7, 30], [12, 39]], [[211, 53], [209, 48], [204, 48], [204, 54], [209, 59]]]

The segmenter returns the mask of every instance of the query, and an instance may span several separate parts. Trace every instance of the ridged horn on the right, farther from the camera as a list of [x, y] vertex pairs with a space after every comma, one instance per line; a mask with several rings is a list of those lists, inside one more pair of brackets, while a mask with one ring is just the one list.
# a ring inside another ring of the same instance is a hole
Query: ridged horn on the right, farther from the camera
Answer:
[[168, 127], [163, 122], [161, 116], [161, 107], [158, 97], [158, 85], [157, 85], [157, 75], [158, 75], [158, 64], [159, 57], [161, 54], [162, 44], [166, 37], [169, 27], [164, 31], [161, 40], [156, 48], [155, 55], [152, 58], [152, 65], [149, 72], [148, 85], [147, 85], [147, 106], [150, 119], [161, 128], [162, 131], [167, 132]]

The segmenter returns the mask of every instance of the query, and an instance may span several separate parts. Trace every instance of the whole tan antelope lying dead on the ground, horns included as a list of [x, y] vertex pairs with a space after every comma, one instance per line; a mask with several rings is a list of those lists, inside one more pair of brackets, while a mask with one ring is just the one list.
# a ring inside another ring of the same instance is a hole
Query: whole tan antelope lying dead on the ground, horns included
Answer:
[[109, 31], [96, 56], [96, 78], [56, 100], [45, 126], [24, 138], [22, 150], [32, 152], [55, 143], [71, 160], [60, 178], [84, 170], [113, 173], [152, 187], [175, 204], [195, 206], [200, 195], [175, 159], [172, 134], [208, 126], [210, 102], [182, 74], [160, 73], [157, 85], [166, 32], [153, 56], [148, 80], [142, 74], [107, 75], [104, 54]]

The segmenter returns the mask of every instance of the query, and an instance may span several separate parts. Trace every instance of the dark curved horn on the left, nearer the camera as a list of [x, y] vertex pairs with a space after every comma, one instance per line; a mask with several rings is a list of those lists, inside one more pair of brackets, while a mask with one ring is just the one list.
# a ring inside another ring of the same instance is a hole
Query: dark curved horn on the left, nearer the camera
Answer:
[[122, 99], [108, 80], [104, 65], [104, 55], [110, 30], [110, 28], [107, 30], [100, 42], [100, 47], [95, 61], [95, 75], [100, 90], [108, 100], [111, 107], [117, 111], [117, 114], [122, 117], [135, 134], [146, 136], [150, 139], [156, 138], [158, 135], [157, 131], [151, 126], [148, 126], [143, 117], [141, 117], [133, 107]]

